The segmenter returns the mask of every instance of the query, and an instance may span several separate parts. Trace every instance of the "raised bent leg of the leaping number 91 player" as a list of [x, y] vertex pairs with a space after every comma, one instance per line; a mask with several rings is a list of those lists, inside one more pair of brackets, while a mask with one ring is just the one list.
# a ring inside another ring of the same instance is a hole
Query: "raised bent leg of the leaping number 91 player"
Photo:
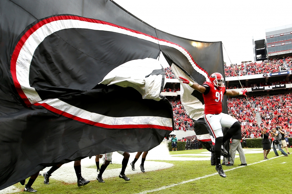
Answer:
[[222, 118], [220, 119], [220, 123], [223, 127], [228, 127], [227, 133], [223, 136], [223, 143], [229, 140], [234, 133], [238, 130], [241, 130], [241, 125], [237, 119], [234, 119], [229, 114], [220, 113]]

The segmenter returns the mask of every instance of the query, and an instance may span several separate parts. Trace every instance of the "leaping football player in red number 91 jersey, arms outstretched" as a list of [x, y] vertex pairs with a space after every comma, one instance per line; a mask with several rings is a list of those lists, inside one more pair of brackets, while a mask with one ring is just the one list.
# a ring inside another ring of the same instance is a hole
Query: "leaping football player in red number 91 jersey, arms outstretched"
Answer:
[[[203, 93], [205, 102], [204, 119], [209, 126], [213, 137], [215, 138], [214, 154], [216, 158], [215, 169], [221, 177], [226, 177], [221, 165], [221, 147], [222, 143], [229, 140], [232, 135], [241, 130], [241, 125], [237, 119], [228, 114], [222, 113], [223, 95], [246, 96], [246, 89], [241, 92], [235, 90], [226, 90], [224, 78], [221, 73], [213, 73], [210, 76], [210, 82], [204, 82], [203, 85], [190, 82], [189, 80], [179, 77], [183, 83], [188, 84], [193, 89]], [[223, 136], [222, 127], [228, 127], [227, 133]]]

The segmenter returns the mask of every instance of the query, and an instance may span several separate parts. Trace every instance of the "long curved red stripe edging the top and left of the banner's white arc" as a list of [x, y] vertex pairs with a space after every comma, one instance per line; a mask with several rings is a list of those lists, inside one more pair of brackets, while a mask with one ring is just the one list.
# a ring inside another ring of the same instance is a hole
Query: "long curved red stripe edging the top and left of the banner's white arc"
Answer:
[[[128, 31], [131, 31], [131, 32], [134, 32], [134, 33], [137, 33], [137, 34], [143, 34], [145, 36], [148, 36], [148, 37], [151, 37], [151, 38], [154, 38], [156, 40], [160, 40], [160, 41], [164, 41], [164, 42], [167, 42], [167, 43], [171, 43], [173, 45], [177, 45], [179, 47], [181, 47], [180, 45], [178, 44], [175, 44], [175, 43], [172, 43], [168, 40], [164, 40], [164, 39], [159, 39], [159, 38], [156, 38], [154, 36], [151, 36], [149, 34], [145, 34], [145, 33], [142, 33], [140, 31], [137, 31], [137, 30], [132, 30], [132, 29], [129, 29], [129, 28], [126, 28], [126, 27], [122, 27], [122, 26], [118, 26], [116, 24], [112, 24], [112, 23], [109, 23], [109, 22], [104, 22], [104, 21], [101, 21], [101, 20], [94, 20], [94, 19], [90, 19], [90, 18], [84, 18], [84, 17], [79, 17], [79, 16], [72, 16], [72, 15], [62, 15], [62, 16], [55, 16], [55, 17], [50, 17], [50, 18], [47, 18], [47, 19], [44, 19], [40, 22], [38, 22], [37, 24], [35, 24], [33, 27], [31, 27], [21, 38], [20, 40], [18, 41], [17, 45], [15, 46], [15, 49], [13, 51], [13, 54], [12, 54], [12, 57], [11, 57], [11, 63], [10, 63], [10, 71], [11, 71], [11, 75], [12, 75], [12, 79], [13, 79], [13, 82], [14, 82], [14, 85], [15, 85], [15, 88], [18, 92], [18, 94], [20, 95], [20, 97], [24, 100], [25, 104], [28, 105], [28, 106], [31, 106], [32, 104], [29, 102], [29, 100], [27, 99], [27, 96], [25, 95], [25, 93], [22, 91], [21, 89], [21, 86], [17, 80], [17, 77], [16, 77], [16, 61], [18, 59], [18, 56], [19, 56], [19, 52], [22, 48], [22, 46], [24, 45], [25, 41], [27, 40], [27, 38], [32, 35], [32, 33], [34, 33], [37, 29], [39, 29], [40, 27], [42, 27], [43, 25], [45, 24], [48, 24], [50, 22], [53, 22], [53, 21], [57, 21], [57, 20], [80, 20], [80, 21], [85, 21], [85, 22], [91, 22], [91, 23], [99, 23], [99, 24], [105, 24], [105, 25], [110, 25], [110, 26], [113, 26], [113, 27], [117, 27], [117, 28], [120, 28], [120, 29], [124, 29], [124, 30], [128, 30]], [[203, 68], [201, 68], [193, 59], [192, 55], [183, 47], [181, 47], [183, 50], [185, 50], [191, 57], [192, 61], [194, 62], [194, 64], [199, 68], [201, 69], [202, 71], [204, 71], [207, 75], [207, 71], [204, 70]]]

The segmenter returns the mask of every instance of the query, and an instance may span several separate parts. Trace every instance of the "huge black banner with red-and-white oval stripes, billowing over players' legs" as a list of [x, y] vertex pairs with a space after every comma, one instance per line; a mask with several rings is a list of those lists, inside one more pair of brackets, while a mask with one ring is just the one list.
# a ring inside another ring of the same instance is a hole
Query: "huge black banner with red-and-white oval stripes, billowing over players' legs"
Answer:
[[198, 83], [224, 75], [221, 42], [169, 35], [114, 1], [1, 0], [0, 189], [56, 163], [157, 146], [173, 130], [161, 52]]

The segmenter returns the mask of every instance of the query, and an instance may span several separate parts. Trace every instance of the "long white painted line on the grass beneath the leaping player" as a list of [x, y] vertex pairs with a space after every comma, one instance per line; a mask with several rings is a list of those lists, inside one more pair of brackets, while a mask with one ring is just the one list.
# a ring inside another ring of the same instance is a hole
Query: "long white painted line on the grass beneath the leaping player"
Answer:
[[[281, 156], [277, 156], [277, 157], [274, 157], [274, 158], [279, 158], [279, 157], [281, 157]], [[270, 158], [270, 160], [272, 160], [274, 158]], [[266, 162], [266, 161], [269, 161], [269, 160], [262, 160], [262, 161], [259, 161], [259, 162], [255, 162], [255, 163], [252, 163], [252, 164], [248, 164], [248, 166], [249, 165], [258, 164], [258, 163], [261, 163], [261, 162]], [[237, 168], [243, 168], [243, 167], [245, 167], [245, 166], [239, 166], [239, 167], [231, 168], [231, 169], [225, 170], [225, 172], [230, 171], [230, 170], [235, 170]], [[189, 183], [189, 182], [192, 182], [192, 181], [197, 181], [199, 179], [204, 179], [204, 178], [211, 177], [211, 176], [214, 176], [214, 175], [218, 175], [218, 173], [216, 172], [216, 173], [213, 173], [213, 174], [208, 174], [208, 175], [205, 175], [203, 177], [197, 177], [195, 179], [190, 179], [190, 180], [187, 180], [187, 181], [182, 181], [182, 182], [179, 182], [179, 183], [176, 183], [176, 184], [171, 184], [171, 185], [163, 186], [163, 187], [160, 187], [160, 188], [157, 188], [157, 189], [142, 191], [142, 192], [140, 192], [138, 194], [147, 194], [147, 193], [152, 193], [152, 192], [155, 192], [155, 191], [161, 191], [161, 190], [164, 190], [166, 188], [178, 186], [178, 185], [185, 184], [185, 183]]]

